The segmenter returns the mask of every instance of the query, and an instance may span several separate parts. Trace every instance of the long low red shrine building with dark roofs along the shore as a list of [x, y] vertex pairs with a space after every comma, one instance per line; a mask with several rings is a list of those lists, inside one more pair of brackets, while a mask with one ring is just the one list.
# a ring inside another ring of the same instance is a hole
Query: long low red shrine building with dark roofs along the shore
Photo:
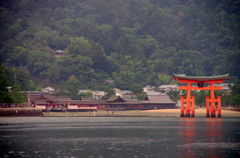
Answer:
[[176, 102], [170, 100], [168, 95], [147, 96], [144, 101], [126, 101], [120, 96], [112, 96], [108, 100], [92, 100], [81, 98], [53, 97], [46, 92], [28, 91], [28, 97], [32, 107], [40, 108], [43, 111], [95, 111], [95, 110], [148, 110], [148, 109], [173, 109]]

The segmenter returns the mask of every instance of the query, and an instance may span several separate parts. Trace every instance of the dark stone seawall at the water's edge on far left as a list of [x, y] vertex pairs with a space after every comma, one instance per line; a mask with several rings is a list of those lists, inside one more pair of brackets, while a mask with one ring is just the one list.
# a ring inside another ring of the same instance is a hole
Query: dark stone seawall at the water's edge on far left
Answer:
[[44, 116], [41, 109], [36, 108], [0, 108], [0, 117], [40, 117]]

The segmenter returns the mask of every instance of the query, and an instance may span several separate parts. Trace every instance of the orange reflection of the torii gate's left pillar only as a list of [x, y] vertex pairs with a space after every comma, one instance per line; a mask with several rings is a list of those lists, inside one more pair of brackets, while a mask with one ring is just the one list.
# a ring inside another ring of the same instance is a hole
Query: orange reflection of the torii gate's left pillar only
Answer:
[[187, 146], [186, 144], [191, 144], [196, 142], [195, 137], [195, 119], [192, 118], [182, 118], [180, 121], [180, 156], [184, 158], [194, 158], [197, 157], [194, 152], [195, 148], [193, 146]]

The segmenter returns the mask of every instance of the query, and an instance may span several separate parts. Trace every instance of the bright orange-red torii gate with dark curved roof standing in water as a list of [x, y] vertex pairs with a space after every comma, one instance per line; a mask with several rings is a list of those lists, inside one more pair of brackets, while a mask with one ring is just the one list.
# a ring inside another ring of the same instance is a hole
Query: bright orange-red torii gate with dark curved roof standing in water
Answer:
[[[221, 117], [221, 97], [214, 96], [214, 90], [221, 90], [222, 87], [215, 87], [214, 83], [222, 83], [228, 78], [229, 74], [218, 75], [218, 76], [182, 76], [173, 74], [172, 78], [181, 83], [186, 83], [186, 86], [179, 86], [179, 90], [187, 90], [187, 96], [180, 96], [181, 101], [181, 114], [180, 117], [195, 117], [195, 95], [191, 95], [191, 90], [210, 90], [210, 96], [206, 96], [206, 117], [216, 117], [216, 112], [218, 112], [218, 117]], [[198, 87], [191, 86], [192, 83], [197, 83]], [[203, 87], [204, 83], [209, 83], [210, 87]], [[186, 107], [184, 107], [184, 102], [186, 102]], [[218, 106], [216, 106], [216, 103]]]

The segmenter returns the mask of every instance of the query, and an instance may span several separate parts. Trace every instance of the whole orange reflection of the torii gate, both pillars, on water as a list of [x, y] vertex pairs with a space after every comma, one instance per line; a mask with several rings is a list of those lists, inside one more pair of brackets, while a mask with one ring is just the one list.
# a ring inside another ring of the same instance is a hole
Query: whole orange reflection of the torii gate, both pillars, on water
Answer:
[[218, 148], [223, 136], [222, 119], [195, 121], [193, 118], [181, 118], [179, 125], [180, 158], [198, 158], [200, 153], [204, 154], [202, 157], [222, 156]]

